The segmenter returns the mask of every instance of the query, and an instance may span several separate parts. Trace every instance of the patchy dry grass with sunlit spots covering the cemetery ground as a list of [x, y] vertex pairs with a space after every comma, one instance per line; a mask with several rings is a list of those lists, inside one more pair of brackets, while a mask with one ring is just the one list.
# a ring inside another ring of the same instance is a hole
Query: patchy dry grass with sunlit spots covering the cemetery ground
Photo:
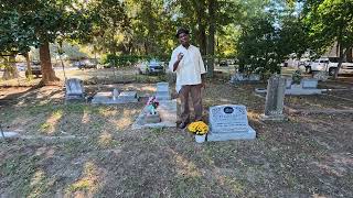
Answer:
[[[154, 78], [161, 77], [147, 81]], [[76, 139], [1, 142], [0, 197], [353, 197], [353, 113], [289, 114], [287, 122], [261, 122], [265, 100], [254, 88], [265, 85], [225, 81], [207, 84], [204, 118], [211, 106], [245, 105], [255, 141], [197, 144], [176, 129], [131, 130], [142, 101], [65, 105], [63, 87], [1, 88], [0, 120], [7, 131]], [[140, 96], [154, 90], [147, 82], [117, 86]], [[94, 82], [86, 88], [88, 95], [108, 89]], [[331, 94], [352, 99], [352, 92]], [[288, 97], [286, 105], [353, 108], [335, 99]]]

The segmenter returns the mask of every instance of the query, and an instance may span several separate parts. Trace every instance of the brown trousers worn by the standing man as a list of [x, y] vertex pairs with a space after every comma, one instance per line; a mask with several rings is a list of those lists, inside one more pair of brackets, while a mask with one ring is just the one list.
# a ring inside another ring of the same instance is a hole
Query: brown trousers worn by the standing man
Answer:
[[190, 106], [189, 95], [191, 95], [192, 103], [195, 111], [195, 120], [202, 120], [202, 98], [201, 98], [202, 85], [185, 85], [182, 86], [179, 91], [179, 98], [181, 101], [181, 121], [190, 121]]

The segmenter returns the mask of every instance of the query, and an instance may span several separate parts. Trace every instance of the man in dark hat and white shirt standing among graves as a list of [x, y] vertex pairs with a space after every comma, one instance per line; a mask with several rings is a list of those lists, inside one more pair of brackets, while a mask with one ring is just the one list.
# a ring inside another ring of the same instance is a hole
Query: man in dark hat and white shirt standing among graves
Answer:
[[179, 45], [172, 53], [169, 68], [176, 73], [176, 92], [181, 100], [181, 124], [184, 129], [190, 122], [189, 95], [191, 95], [195, 120], [202, 120], [201, 88], [204, 87], [201, 75], [205, 74], [205, 67], [197, 47], [189, 42], [189, 31], [179, 29], [176, 32]]

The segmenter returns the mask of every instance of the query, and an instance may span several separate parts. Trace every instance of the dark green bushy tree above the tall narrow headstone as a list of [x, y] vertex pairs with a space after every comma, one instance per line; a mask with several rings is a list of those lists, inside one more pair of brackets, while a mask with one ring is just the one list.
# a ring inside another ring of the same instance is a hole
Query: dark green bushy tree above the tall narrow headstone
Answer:
[[271, 1], [267, 10], [243, 23], [237, 41], [239, 70], [263, 77], [280, 73], [280, 64], [292, 55], [300, 58], [311, 44], [295, 1]]

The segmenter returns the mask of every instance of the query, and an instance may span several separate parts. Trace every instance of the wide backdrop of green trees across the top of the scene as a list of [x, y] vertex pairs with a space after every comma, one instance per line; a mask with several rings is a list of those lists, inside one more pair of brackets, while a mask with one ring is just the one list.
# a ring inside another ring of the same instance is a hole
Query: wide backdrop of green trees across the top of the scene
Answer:
[[50, 43], [168, 57], [176, 29], [188, 28], [211, 76], [216, 56], [274, 73], [289, 54], [320, 55], [338, 42], [343, 57], [353, 45], [352, 0], [0, 0], [0, 54], [39, 47], [44, 82], [57, 80]]

